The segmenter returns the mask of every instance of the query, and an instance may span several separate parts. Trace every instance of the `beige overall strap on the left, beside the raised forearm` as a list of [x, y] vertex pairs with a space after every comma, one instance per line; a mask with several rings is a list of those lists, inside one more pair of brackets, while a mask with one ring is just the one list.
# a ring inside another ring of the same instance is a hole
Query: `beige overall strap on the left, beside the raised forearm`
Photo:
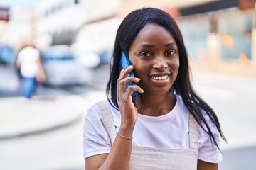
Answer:
[[102, 123], [107, 131], [107, 135], [110, 137], [111, 145], [114, 143], [114, 139], [117, 136], [117, 132], [114, 127], [114, 120], [108, 106], [107, 101], [97, 102], [97, 106], [100, 108], [100, 113], [102, 114]]

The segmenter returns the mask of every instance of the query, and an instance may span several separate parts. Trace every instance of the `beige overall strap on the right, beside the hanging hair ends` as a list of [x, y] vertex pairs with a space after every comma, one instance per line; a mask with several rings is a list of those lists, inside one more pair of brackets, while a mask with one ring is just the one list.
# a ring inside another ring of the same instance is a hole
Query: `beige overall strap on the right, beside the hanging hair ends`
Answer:
[[199, 125], [193, 115], [189, 114], [189, 145], [198, 150]]

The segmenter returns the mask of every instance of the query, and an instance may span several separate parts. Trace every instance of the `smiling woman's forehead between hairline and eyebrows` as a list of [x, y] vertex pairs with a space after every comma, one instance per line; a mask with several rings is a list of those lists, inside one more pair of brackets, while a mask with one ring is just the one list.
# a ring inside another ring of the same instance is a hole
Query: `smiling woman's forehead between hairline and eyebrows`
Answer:
[[170, 43], [176, 41], [174, 36], [166, 30], [166, 28], [159, 26], [155, 23], [148, 23], [142, 30], [138, 33], [137, 37], [134, 39], [134, 43]]

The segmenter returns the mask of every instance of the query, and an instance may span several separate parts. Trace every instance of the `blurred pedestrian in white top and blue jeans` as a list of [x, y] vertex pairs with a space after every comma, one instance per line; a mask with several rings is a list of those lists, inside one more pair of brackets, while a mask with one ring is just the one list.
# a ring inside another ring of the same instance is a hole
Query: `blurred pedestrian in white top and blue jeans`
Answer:
[[40, 52], [33, 45], [23, 47], [18, 53], [16, 62], [22, 77], [22, 93], [26, 98], [31, 98], [37, 83], [43, 83], [45, 74], [41, 64]]

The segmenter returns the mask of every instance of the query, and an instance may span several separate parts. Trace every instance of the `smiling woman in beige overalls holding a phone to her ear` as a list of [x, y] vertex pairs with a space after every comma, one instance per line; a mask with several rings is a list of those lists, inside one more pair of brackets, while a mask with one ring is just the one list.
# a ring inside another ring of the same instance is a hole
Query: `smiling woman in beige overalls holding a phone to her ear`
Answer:
[[[122, 52], [132, 66], [119, 72]], [[225, 137], [189, 76], [174, 19], [156, 8], [129, 13], [117, 30], [109, 103], [95, 104], [85, 118], [85, 169], [218, 169]], [[125, 90], [131, 81], [137, 85]]]

